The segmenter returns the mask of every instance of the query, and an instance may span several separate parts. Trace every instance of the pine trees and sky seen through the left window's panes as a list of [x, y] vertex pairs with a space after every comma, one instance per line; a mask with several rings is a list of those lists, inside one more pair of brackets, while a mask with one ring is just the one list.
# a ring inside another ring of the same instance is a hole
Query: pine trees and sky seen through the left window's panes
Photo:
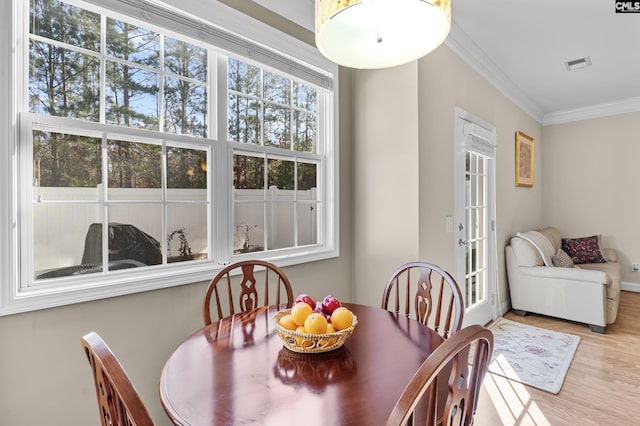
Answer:
[[[31, 0], [30, 5], [31, 112], [99, 122], [103, 99], [106, 123], [158, 130], [160, 34], [106, 19], [110, 59], [101, 97], [100, 15], [59, 0]], [[207, 51], [168, 37], [164, 45], [164, 130], [206, 137]], [[106, 146], [110, 187], [161, 187], [159, 145], [111, 139]], [[96, 138], [36, 131], [34, 178], [42, 186], [95, 186], [101, 182], [101, 148]], [[170, 187], [207, 187], [206, 151], [169, 147], [167, 159]]]

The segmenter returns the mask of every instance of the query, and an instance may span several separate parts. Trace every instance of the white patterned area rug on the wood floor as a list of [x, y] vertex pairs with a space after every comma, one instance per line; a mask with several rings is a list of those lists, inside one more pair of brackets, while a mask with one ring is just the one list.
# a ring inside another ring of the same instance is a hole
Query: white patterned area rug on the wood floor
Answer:
[[489, 372], [551, 393], [558, 393], [580, 337], [499, 318], [493, 332]]

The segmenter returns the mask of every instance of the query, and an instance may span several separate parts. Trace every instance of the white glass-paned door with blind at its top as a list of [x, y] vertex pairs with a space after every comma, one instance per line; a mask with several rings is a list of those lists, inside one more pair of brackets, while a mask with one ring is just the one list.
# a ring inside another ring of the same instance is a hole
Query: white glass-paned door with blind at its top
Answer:
[[456, 280], [463, 325], [496, 317], [495, 127], [456, 109], [454, 160]]

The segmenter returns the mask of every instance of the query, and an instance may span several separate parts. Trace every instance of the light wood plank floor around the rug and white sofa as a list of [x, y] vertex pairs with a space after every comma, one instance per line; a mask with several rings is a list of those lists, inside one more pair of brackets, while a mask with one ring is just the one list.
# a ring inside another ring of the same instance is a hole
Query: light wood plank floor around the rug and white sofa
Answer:
[[623, 291], [606, 334], [585, 324], [508, 312], [513, 321], [580, 336], [557, 395], [487, 374], [476, 426], [640, 425], [640, 293]]

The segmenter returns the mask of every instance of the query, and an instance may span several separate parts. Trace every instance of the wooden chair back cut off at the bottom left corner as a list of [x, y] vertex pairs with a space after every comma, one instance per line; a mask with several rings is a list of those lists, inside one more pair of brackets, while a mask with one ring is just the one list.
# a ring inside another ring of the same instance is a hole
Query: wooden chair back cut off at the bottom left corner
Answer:
[[153, 426], [153, 419], [111, 349], [95, 332], [82, 336], [103, 426]]

